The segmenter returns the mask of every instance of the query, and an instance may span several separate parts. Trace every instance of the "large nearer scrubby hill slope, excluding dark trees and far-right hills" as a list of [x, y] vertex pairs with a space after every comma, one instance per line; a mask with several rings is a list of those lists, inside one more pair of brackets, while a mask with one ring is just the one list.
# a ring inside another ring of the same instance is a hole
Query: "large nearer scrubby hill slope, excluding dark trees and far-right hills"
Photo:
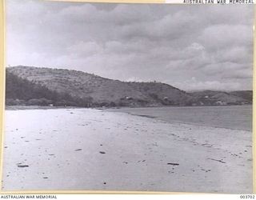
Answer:
[[[190, 95], [182, 90], [157, 82], [120, 82], [81, 71], [28, 66], [10, 67], [8, 70], [50, 90], [82, 98], [90, 96], [96, 102], [119, 102], [121, 98], [128, 96], [149, 104], [161, 105], [164, 97], [168, 97], [174, 104], [190, 98]], [[152, 94], [156, 94], [158, 98], [152, 97]]]

